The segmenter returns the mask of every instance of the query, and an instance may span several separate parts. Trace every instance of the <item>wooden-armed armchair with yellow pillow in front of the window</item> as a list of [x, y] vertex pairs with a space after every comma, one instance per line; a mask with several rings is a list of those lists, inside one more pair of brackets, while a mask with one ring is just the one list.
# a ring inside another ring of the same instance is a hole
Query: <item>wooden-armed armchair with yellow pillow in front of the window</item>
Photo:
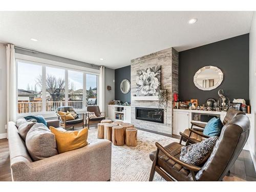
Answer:
[[[75, 118], [74, 120], [66, 120], [66, 116], [65, 115], [59, 115], [58, 112], [66, 112], [69, 111], [73, 117]], [[57, 111], [57, 116], [58, 119], [60, 121], [60, 126], [62, 126], [64, 129], [67, 129], [69, 127], [73, 127], [74, 130], [74, 126], [82, 126], [84, 127], [84, 114], [77, 114], [73, 108], [73, 106], [60, 106]], [[79, 116], [81, 115], [81, 117]]]

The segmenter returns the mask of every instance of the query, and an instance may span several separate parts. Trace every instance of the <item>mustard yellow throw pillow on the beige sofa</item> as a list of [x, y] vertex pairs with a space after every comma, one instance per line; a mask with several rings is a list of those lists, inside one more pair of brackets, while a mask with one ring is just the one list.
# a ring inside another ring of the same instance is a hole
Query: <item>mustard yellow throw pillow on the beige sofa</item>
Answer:
[[55, 135], [58, 153], [64, 153], [88, 144], [88, 128], [79, 131], [59, 131], [50, 126], [51, 132]]

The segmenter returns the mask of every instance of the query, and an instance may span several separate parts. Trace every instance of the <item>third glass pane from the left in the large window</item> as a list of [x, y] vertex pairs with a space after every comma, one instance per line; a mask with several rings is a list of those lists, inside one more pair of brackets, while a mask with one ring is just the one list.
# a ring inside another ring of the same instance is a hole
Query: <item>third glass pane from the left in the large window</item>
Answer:
[[83, 73], [69, 70], [69, 106], [83, 109]]

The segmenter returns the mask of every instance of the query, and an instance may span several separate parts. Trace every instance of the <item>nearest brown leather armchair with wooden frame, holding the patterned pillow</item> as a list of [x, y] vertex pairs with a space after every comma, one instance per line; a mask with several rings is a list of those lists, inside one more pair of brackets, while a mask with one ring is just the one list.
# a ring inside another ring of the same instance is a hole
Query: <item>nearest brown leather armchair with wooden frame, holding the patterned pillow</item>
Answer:
[[230, 118], [225, 118], [225, 125], [210, 157], [200, 166], [179, 159], [184, 145], [173, 142], [163, 147], [156, 143], [157, 151], [150, 154], [153, 161], [150, 181], [155, 172], [167, 181], [221, 181], [237, 160], [249, 136], [248, 117], [237, 115], [232, 120]]

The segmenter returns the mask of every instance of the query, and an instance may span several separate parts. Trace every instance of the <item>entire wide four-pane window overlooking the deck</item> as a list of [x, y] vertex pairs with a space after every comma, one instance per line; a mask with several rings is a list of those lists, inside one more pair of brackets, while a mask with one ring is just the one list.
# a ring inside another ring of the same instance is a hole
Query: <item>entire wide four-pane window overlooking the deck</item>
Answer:
[[98, 74], [21, 59], [16, 65], [18, 114], [55, 112], [67, 105], [86, 110], [97, 104]]

